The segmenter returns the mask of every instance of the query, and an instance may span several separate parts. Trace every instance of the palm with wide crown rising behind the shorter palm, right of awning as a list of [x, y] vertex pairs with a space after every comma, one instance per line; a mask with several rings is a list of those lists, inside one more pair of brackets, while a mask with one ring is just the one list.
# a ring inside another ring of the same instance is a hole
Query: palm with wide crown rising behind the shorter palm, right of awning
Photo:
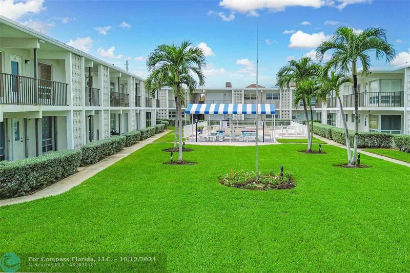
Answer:
[[[290, 60], [287, 65], [281, 67], [276, 74], [277, 85], [280, 89], [290, 88], [291, 82], [303, 82], [317, 77], [321, 71], [321, 66], [313, 62], [310, 57], [302, 57], [299, 60]], [[296, 93], [296, 91], [295, 91]], [[302, 95], [304, 93], [300, 93]], [[296, 96], [296, 94], [295, 94]], [[312, 134], [309, 124], [308, 110], [306, 106], [306, 98], [299, 97], [299, 100], [303, 102], [303, 108], [305, 109], [306, 126], [308, 127], [308, 152], [312, 151]], [[313, 117], [312, 117], [313, 119]]]

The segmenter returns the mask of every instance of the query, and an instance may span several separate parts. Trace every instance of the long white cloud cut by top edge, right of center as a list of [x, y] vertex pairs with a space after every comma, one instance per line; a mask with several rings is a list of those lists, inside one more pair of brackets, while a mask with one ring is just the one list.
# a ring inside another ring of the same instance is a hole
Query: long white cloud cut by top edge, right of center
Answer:
[[332, 6], [338, 9], [343, 9], [347, 5], [355, 3], [370, 3], [371, 0], [259, 0], [259, 1], [243, 1], [243, 0], [222, 0], [219, 6], [247, 13], [248, 15], [257, 15], [257, 10], [268, 9], [273, 12], [283, 11], [288, 7], [311, 7], [321, 8], [323, 6]]

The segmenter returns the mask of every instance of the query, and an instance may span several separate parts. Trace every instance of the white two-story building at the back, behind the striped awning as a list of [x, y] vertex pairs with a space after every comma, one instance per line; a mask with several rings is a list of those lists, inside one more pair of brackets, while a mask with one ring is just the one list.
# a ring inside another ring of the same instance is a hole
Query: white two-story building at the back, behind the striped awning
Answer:
[[[275, 104], [276, 120], [303, 120], [304, 112], [300, 106], [293, 105], [293, 89], [280, 90], [277, 87], [265, 88], [258, 86], [258, 97], [256, 98], [256, 85], [252, 84], [245, 88], [234, 88], [230, 82], [224, 88], [197, 89], [193, 94], [186, 93], [185, 105], [189, 103], [270, 103]], [[159, 118], [175, 119], [175, 98], [172, 89], [162, 89], [158, 93]], [[315, 104], [314, 104], [315, 105]], [[182, 108], [182, 111], [185, 107]], [[315, 108], [316, 109], [316, 108]], [[315, 119], [321, 119], [321, 113], [314, 113]], [[228, 120], [229, 115], [223, 114], [199, 114], [185, 117], [187, 122], [195, 120]], [[233, 115], [233, 120], [255, 120], [255, 115]], [[262, 115], [264, 119], [273, 119], [272, 115]]]

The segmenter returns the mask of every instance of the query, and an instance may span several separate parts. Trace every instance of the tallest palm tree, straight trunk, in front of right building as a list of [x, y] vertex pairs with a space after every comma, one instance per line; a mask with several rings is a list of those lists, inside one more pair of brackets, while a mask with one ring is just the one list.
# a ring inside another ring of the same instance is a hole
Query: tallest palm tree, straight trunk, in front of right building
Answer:
[[331, 69], [353, 76], [355, 93], [355, 137], [353, 144], [353, 157], [349, 165], [356, 164], [357, 141], [359, 137], [359, 94], [357, 91], [357, 66], [362, 65], [362, 75], [370, 72], [371, 60], [369, 53], [374, 51], [376, 59], [386, 59], [390, 62], [396, 56], [392, 44], [387, 43], [386, 31], [381, 28], [367, 28], [357, 32], [349, 27], [339, 27], [329, 41], [324, 41], [316, 50], [317, 57], [322, 60], [324, 54], [332, 50], [332, 57], [324, 66], [324, 73]]

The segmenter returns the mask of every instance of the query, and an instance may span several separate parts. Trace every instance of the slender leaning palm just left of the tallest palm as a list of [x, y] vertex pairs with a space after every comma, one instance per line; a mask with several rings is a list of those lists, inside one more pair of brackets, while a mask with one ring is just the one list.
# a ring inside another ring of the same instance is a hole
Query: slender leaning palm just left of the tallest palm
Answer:
[[325, 74], [321, 78], [322, 86], [320, 89], [319, 98], [326, 102], [327, 95], [333, 95], [335, 92], [337, 99], [339, 100], [339, 107], [340, 107], [340, 116], [343, 119], [343, 127], [344, 127], [344, 136], [346, 138], [346, 148], [347, 148], [347, 159], [348, 162], [352, 161], [352, 153], [350, 150], [350, 138], [349, 138], [349, 131], [347, 129], [347, 122], [344, 118], [344, 111], [343, 111], [343, 103], [340, 98], [340, 88], [343, 86], [344, 83], [351, 82], [353, 83], [353, 78], [349, 77], [343, 73], [336, 73], [335, 71], [331, 71], [330, 75]]

